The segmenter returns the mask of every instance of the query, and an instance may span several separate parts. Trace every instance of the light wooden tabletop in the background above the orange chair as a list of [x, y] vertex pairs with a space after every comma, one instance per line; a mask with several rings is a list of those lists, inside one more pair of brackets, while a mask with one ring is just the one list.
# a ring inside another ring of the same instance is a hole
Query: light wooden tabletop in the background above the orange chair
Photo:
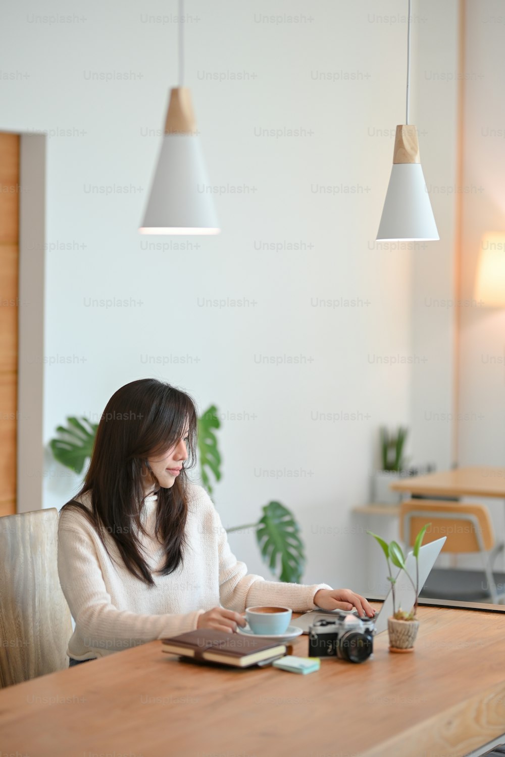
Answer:
[[390, 488], [433, 497], [499, 497], [505, 499], [505, 468], [468, 466], [401, 478]]

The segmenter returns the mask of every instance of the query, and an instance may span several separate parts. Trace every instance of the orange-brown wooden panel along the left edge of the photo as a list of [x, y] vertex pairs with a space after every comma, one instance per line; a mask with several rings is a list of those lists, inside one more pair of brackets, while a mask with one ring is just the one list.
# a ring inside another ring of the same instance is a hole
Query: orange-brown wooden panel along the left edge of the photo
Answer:
[[0, 516], [16, 512], [19, 154], [0, 133]]

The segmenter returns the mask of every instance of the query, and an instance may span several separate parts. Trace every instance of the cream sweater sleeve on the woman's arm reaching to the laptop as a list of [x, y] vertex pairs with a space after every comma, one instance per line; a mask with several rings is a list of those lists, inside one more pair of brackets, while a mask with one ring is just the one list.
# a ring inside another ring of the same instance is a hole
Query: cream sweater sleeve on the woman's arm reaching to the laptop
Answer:
[[[209, 499], [210, 502], [210, 499]], [[279, 605], [294, 612], [316, 609], [313, 597], [320, 589], [331, 589], [328, 584], [287, 584], [265, 581], [260, 575], [248, 574], [244, 562], [239, 562], [228, 544], [217, 509], [212, 506], [213, 532], [217, 534], [219, 550], [220, 601], [223, 607], [244, 612], [246, 607]]]

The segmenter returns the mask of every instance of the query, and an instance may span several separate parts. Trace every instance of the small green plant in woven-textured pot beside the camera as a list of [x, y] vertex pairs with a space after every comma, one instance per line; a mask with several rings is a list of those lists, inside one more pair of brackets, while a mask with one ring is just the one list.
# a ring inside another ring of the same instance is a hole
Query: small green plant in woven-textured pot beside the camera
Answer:
[[[388, 581], [390, 581], [391, 583], [391, 597], [393, 600], [393, 615], [391, 615], [391, 618], [388, 618], [390, 652], [413, 652], [414, 643], [417, 637], [417, 631], [419, 631], [419, 621], [417, 619], [417, 600], [419, 598], [419, 549], [421, 548], [424, 534], [426, 534], [426, 528], [428, 528], [429, 525], [431, 524], [426, 523], [426, 525], [421, 528], [414, 542], [413, 556], [416, 559], [415, 583], [409, 572], [407, 571], [405, 556], [400, 544], [398, 544], [396, 541], [391, 541], [391, 543], [388, 544], [380, 536], [374, 534], [373, 531], [366, 531], [366, 533], [370, 534], [370, 536], [373, 536], [379, 546], [382, 547], [386, 562], [388, 563]], [[405, 612], [401, 609], [401, 607], [396, 609], [394, 584], [396, 584], [397, 582], [397, 577], [394, 578], [393, 576], [393, 572], [391, 570], [391, 562], [396, 568], [401, 569], [405, 573], [413, 586], [413, 590], [415, 592], [415, 600], [413, 608], [410, 609], [409, 612]]]

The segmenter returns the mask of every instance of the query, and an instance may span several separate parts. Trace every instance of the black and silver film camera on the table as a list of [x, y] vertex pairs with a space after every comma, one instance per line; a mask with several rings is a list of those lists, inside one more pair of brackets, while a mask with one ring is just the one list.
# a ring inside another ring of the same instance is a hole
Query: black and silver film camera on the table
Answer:
[[373, 654], [374, 618], [344, 612], [335, 620], [316, 620], [309, 628], [309, 657], [365, 662]]

